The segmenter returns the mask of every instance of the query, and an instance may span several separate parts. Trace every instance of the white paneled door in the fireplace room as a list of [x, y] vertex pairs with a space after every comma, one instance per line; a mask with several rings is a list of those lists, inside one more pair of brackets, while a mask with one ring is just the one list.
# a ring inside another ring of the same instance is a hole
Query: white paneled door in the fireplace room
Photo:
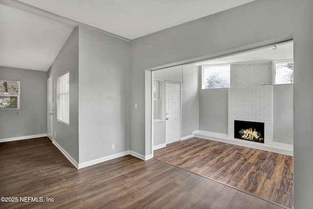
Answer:
[[180, 85], [166, 83], [166, 144], [180, 140]]

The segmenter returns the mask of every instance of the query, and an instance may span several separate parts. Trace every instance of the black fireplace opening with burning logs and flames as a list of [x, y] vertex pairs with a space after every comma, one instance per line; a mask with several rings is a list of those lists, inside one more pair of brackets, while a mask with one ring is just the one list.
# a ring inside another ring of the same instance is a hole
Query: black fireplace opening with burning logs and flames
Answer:
[[264, 143], [264, 123], [235, 120], [234, 132], [236, 139]]

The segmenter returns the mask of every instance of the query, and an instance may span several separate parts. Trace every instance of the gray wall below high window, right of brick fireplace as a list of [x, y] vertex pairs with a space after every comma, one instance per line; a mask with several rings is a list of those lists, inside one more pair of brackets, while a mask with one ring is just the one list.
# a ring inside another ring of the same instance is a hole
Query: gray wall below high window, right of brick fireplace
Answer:
[[273, 141], [293, 144], [293, 84], [273, 85]]

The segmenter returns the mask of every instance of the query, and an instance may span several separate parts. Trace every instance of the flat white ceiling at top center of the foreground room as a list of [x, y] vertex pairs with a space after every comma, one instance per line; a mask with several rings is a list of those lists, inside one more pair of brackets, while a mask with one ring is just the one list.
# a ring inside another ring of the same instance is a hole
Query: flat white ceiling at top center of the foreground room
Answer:
[[20, 1], [132, 40], [253, 0]]

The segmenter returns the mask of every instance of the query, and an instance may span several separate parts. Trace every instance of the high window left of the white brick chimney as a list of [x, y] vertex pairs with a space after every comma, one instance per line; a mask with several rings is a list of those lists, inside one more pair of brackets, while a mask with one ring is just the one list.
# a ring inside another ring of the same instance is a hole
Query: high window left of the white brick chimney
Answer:
[[230, 87], [230, 65], [202, 67], [202, 89]]

